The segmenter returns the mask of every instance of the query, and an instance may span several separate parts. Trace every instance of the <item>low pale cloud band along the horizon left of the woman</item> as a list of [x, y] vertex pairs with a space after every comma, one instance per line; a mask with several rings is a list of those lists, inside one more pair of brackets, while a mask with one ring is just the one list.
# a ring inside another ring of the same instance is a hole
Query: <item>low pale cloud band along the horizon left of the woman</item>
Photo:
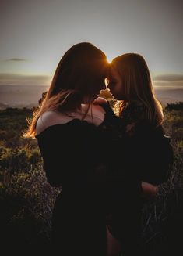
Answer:
[[50, 85], [47, 75], [24, 75], [0, 73], [0, 85]]

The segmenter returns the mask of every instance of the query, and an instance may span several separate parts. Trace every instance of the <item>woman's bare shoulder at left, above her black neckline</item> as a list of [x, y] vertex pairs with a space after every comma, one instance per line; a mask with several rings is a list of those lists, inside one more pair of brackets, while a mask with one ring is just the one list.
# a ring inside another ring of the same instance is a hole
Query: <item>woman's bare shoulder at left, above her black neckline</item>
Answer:
[[66, 124], [71, 121], [72, 118], [64, 113], [58, 111], [46, 111], [40, 115], [37, 120], [36, 132], [37, 135], [43, 132], [46, 128], [55, 124]]

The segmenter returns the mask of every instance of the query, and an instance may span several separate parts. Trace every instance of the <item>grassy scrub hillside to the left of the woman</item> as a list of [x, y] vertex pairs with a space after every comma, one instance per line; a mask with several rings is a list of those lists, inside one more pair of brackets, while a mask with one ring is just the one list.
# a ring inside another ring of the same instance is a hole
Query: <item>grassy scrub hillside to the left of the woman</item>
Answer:
[[48, 249], [59, 191], [47, 182], [37, 140], [22, 136], [31, 115], [28, 109], [0, 111], [1, 242], [5, 250], [13, 247], [19, 252]]

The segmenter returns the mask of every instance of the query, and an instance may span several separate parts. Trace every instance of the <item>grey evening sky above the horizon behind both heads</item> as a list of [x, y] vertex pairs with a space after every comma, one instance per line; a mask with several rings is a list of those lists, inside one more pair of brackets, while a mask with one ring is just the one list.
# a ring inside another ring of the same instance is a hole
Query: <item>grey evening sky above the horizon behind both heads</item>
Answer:
[[63, 54], [90, 41], [137, 52], [153, 85], [183, 88], [181, 0], [1, 0], [0, 85], [50, 85]]

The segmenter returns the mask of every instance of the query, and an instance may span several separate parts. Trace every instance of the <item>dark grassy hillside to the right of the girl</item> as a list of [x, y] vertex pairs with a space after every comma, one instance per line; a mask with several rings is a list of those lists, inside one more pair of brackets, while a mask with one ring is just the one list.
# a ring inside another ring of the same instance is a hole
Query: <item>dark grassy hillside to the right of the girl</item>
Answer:
[[157, 198], [143, 207], [143, 240], [150, 256], [183, 254], [179, 235], [183, 230], [183, 103], [164, 108], [164, 129], [171, 136], [174, 164]]

